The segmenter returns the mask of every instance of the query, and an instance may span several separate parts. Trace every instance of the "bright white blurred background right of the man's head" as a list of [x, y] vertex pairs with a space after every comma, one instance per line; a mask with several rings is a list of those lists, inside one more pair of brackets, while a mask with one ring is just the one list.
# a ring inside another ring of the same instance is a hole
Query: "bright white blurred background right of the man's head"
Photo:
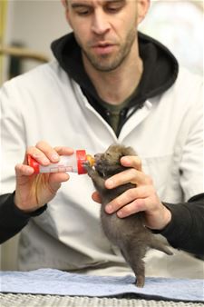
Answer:
[[203, 74], [204, 19], [202, 0], [151, 1], [141, 31], [170, 48], [180, 64]]

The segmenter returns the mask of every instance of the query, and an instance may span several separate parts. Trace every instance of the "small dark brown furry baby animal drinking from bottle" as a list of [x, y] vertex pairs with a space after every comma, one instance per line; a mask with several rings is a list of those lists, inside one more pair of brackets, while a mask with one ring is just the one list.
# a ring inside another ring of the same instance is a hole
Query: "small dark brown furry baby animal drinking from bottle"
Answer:
[[86, 164], [85, 167], [96, 190], [102, 198], [102, 229], [108, 239], [116, 244], [121, 253], [131, 266], [136, 276], [136, 285], [143, 287], [145, 282], [145, 269], [143, 258], [148, 248], [157, 249], [161, 252], [172, 254], [170, 250], [160, 243], [158, 239], [149, 231], [142, 222], [143, 213], [136, 213], [126, 218], [119, 218], [116, 213], [108, 214], [104, 211], [106, 203], [135, 185], [127, 183], [114, 189], [106, 189], [104, 182], [115, 173], [120, 173], [127, 169], [120, 163], [124, 155], [136, 155], [131, 147], [120, 144], [111, 145], [105, 153], [94, 155], [94, 167]]

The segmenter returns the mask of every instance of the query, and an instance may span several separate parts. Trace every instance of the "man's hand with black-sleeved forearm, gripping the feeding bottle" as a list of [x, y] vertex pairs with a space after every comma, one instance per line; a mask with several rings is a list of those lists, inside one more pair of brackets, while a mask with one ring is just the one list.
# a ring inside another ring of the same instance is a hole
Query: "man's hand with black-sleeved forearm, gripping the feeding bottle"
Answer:
[[34, 173], [27, 164], [27, 154], [42, 165], [59, 160], [60, 155], [69, 155], [73, 149], [51, 147], [45, 142], [27, 148], [24, 163], [15, 165], [15, 193], [3, 194], [0, 199], [0, 243], [20, 232], [32, 216], [44, 212], [63, 182], [69, 180], [68, 173]]

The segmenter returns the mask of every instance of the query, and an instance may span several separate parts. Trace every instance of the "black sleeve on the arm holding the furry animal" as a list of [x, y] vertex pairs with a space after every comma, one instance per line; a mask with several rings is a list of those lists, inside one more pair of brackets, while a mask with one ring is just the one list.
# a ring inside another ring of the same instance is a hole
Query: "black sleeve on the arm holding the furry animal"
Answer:
[[204, 194], [192, 197], [188, 203], [164, 203], [172, 215], [162, 231], [153, 231], [166, 237], [174, 248], [204, 255]]

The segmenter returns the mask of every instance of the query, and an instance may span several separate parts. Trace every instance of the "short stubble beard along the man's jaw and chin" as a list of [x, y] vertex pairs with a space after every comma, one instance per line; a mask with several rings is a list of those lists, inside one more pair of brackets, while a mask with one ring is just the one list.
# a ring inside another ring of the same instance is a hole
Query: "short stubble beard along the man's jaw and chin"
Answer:
[[92, 67], [98, 72], [112, 72], [117, 69], [125, 61], [127, 56], [131, 53], [131, 46], [136, 39], [135, 29], [131, 29], [129, 34], [126, 36], [124, 44], [121, 45], [120, 50], [117, 54], [92, 54], [85, 50], [83, 45], [76, 38], [78, 44], [81, 46], [83, 55]]

